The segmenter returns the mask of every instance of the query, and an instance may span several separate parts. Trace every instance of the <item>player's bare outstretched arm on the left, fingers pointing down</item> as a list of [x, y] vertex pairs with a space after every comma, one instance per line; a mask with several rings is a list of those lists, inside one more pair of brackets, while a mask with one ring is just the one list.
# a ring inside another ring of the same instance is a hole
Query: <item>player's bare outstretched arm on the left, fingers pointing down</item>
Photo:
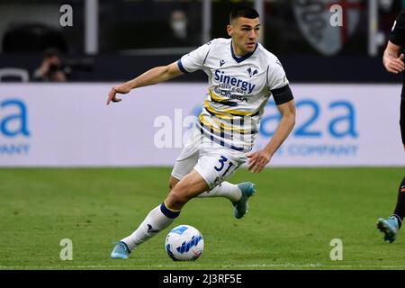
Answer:
[[175, 78], [176, 76], [180, 76], [182, 74], [183, 72], [178, 67], [177, 62], [173, 62], [172, 64], [167, 66], [154, 67], [128, 82], [122, 83], [121, 85], [113, 86], [110, 93], [108, 94], [107, 105], [110, 102], [121, 101], [121, 98], [118, 98], [116, 96], [117, 93], [128, 94], [132, 89], [142, 86], [154, 85]]

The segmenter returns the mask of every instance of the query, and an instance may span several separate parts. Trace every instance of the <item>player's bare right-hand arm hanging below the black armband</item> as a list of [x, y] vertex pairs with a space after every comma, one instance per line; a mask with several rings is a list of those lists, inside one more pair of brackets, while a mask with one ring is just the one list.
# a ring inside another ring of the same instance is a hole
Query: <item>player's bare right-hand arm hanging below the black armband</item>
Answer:
[[293, 100], [278, 105], [277, 108], [282, 114], [282, 120], [275, 130], [275, 135], [265, 148], [247, 155], [249, 157], [247, 161], [249, 165], [248, 170], [251, 170], [252, 173], [260, 173], [265, 168], [273, 155], [275, 155], [275, 151], [283, 144], [295, 125], [295, 103]]

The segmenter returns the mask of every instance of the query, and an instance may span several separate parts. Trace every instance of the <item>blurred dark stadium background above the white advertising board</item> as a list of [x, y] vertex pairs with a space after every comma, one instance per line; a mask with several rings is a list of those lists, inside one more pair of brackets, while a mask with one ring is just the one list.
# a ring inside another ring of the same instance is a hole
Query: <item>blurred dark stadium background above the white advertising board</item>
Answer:
[[[60, 7], [72, 7], [62, 26]], [[290, 81], [399, 82], [382, 55], [405, 0], [0, 0], [0, 81], [121, 81], [228, 38], [229, 10], [257, 8], [261, 43]], [[343, 27], [329, 23], [333, 4]], [[177, 81], [202, 81], [194, 73]]]

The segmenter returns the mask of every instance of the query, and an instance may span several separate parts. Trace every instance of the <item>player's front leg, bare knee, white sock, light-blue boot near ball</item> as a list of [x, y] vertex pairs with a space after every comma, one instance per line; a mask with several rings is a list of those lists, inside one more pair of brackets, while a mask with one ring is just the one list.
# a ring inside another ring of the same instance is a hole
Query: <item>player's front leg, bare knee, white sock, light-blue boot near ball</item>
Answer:
[[197, 172], [185, 175], [168, 193], [166, 200], [148, 213], [139, 228], [115, 245], [111, 257], [128, 258], [134, 248], [170, 226], [186, 202], [207, 189], [208, 185]]

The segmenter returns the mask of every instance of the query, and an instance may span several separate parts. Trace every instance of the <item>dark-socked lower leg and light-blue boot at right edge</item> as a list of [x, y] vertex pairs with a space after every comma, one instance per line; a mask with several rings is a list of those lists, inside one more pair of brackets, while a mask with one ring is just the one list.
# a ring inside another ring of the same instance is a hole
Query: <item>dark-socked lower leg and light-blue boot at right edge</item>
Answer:
[[384, 233], [384, 240], [392, 243], [396, 238], [398, 231], [401, 229], [402, 220], [405, 216], [405, 177], [403, 177], [398, 192], [398, 200], [395, 210], [387, 219], [380, 218], [377, 220], [377, 228]]

